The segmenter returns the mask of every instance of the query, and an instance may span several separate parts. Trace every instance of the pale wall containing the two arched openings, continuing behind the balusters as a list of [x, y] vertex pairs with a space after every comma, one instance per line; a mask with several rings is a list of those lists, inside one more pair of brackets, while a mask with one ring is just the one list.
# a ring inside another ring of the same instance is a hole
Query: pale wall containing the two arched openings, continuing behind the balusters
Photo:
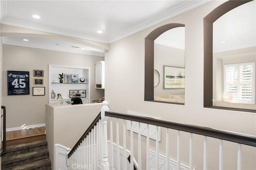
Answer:
[[[193, 125], [224, 129], [256, 135], [255, 113], [211, 109], [203, 107], [204, 80], [204, 42], [203, 18], [224, 1], [212, 1], [194, 10], [164, 21], [158, 25], [130, 35], [110, 44], [110, 51], [105, 55], [106, 90], [105, 99], [110, 111], [126, 113], [131, 111]], [[185, 105], [163, 104], [144, 101], [144, 38], [154, 29], [167, 23], [185, 24]], [[173, 133], [174, 134], [174, 133]], [[162, 137], [164, 137], [162, 131]], [[188, 164], [188, 138], [182, 135], [181, 162]], [[176, 138], [176, 134], [174, 135]], [[174, 139], [175, 140], [175, 139]], [[134, 140], [136, 143], [136, 140]], [[129, 144], [127, 144], [129, 145]], [[136, 145], [136, 144], [135, 144]], [[134, 145], [134, 146], [135, 146]], [[145, 145], [144, 143], [142, 145]], [[154, 143], [150, 145], [154, 148]], [[210, 145], [212, 145], [210, 147]], [[175, 146], [175, 143], [171, 143]], [[203, 169], [203, 137], [193, 136], [194, 168]], [[218, 169], [218, 140], [208, 138], [208, 169]], [[160, 143], [160, 152], [165, 151], [164, 139]], [[242, 147], [243, 169], [256, 169], [256, 151], [253, 147]], [[236, 169], [237, 145], [224, 144], [224, 169]], [[138, 149], [134, 147], [134, 154]], [[171, 150], [171, 157], [176, 159], [176, 150]]]

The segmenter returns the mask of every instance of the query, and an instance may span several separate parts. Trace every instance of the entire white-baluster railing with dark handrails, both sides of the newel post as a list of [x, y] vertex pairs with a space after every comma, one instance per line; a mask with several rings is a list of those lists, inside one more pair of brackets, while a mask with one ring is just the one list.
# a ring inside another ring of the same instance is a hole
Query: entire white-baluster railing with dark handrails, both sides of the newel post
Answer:
[[[219, 139], [219, 169], [223, 169], [223, 141], [231, 141], [238, 144], [237, 151], [237, 169], [242, 170], [242, 144], [248, 145], [252, 147], [256, 147], [256, 136], [246, 135], [231, 131], [223, 131], [219, 129], [212, 129], [208, 127], [200, 127], [196, 125], [188, 125], [183, 123], [169, 122], [159, 119], [153, 119], [150, 117], [142, 117], [137, 115], [128, 115], [124, 113], [116, 113], [109, 111], [107, 107], [107, 102], [102, 102], [103, 106], [101, 109], [101, 113], [96, 117], [96, 119], [92, 122], [90, 127], [86, 130], [84, 135], [80, 138], [78, 143], [76, 143], [75, 147], [66, 154], [66, 164], [68, 169], [93, 169], [93, 170], [134, 170], [134, 169], [165, 169], [170, 170], [173, 166], [170, 166], [170, 158], [169, 158], [169, 129], [176, 130], [177, 133], [177, 160], [176, 160], [176, 168], [180, 170], [184, 169], [183, 164], [180, 162], [180, 153], [181, 153], [181, 145], [180, 145], [180, 131], [184, 131], [190, 133], [190, 142], [189, 142], [189, 166], [187, 169], [193, 170], [193, 143], [192, 137], [193, 134], [203, 135], [204, 136], [204, 155], [203, 155], [203, 169], [207, 170], [207, 138], [213, 137]], [[110, 142], [109, 148], [110, 152], [108, 152], [108, 141], [107, 141], [107, 117], [110, 117]], [[113, 143], [113, 121], [112, 118], [116, 119], [116, 147]], [[122, 119], [123, 121], [121, 121]], [[126, 149], [126, 124], [128, 121], [131, 121], [130, 126], [130, 152], [127, 154]], [[122, 122], [122, 126], [119, 126], [119, 122]], [[133, 140], [133, 128], [135, 125], [133, 123], [138, 123], [136, 126], [138, 127], [138, 164], [135, 166], [136, 160], [134, 159], [134, 140]], [[145, 123], [144, 130], [146, 129], [146, 165], [142, 164], [142, 144], [141, 144], [141, 125]], [[156, 126], [156, 152], [155, 152], [155, 162], [152, 164], [150, 162], [150, 145], [149, 145], [149, 131], [150, 125]], [[122, 127], [123, 131], [121, 131], [123, 136], [123, 146], [120, 146], [119, 143], [119, 130]], [[159, 129], [158, 127], [166, 128], [166, 153], [165, 153], [165, 162], [159, 163], [160, 161], [160, 153], [159, 153]], [[114, 158], [113, 150], [116, 148], [116, 157]], [[122, 153], [119, 151], [122, 148]], [[122, 154], [122, 156], [120, 156]], [[122, 158], [121, 158], [122, 157]], [[129, 165], [127, 165], [127, 158], [129, 159]], [[108, 163], [108, 159], [110, 160]], [[115, 162], [115, 165], [114, 165]], [[121, 166], [122, 165], [122, 166]]]

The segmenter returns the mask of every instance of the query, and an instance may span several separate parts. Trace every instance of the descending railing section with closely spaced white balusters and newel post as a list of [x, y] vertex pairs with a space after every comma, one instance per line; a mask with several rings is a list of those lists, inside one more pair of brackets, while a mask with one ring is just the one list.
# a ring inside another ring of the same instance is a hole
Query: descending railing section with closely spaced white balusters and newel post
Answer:
[[97, 115], [76, 145], [66, 152], [66, 165], [70, 169], [109, 170], [107, 117], [109, 111], [104, 101], [101, 112]]

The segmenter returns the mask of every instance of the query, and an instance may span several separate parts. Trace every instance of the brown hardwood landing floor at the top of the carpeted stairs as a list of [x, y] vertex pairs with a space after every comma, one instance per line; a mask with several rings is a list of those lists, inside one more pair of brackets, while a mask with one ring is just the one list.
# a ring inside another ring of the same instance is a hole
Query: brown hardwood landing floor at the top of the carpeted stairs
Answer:
[[34, 141], [44, 140], [45, 127], [35, 127], [30, 129], [22, 129], [17, 131], [6, 132], [6, 145], [18, 145]]

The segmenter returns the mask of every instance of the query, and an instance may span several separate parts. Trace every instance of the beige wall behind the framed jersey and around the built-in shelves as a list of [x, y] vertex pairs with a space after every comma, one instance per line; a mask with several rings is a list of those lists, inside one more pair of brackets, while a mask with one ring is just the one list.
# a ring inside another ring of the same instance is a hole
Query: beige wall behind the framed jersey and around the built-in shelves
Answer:
[[[91, 68], [91, 102], [104, 96], [95, 89], [95, 62], [104, 57], [3, 45], [3, 105], [6, 106], [6, 127], [45, 123], [45, 104], [48, 103], [48, 65], [59, 64]], [[30, 95], [7, 95], [7, 70], [30, 71]], [[45, 96], [32, 96], [33, 71], [44, 70]], [[72, 90], [72, 89], [71, 89]]]

